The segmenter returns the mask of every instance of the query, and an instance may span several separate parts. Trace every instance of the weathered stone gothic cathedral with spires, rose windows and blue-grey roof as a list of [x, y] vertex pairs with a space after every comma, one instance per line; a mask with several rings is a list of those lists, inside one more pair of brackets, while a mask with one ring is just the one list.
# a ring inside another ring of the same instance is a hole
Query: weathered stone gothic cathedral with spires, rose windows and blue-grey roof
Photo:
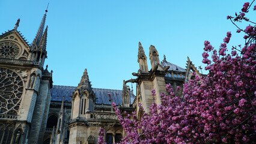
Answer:
[[[32, 44], [17, 31], [19, 20], [14, 29], [0, 35], [0, 143], [92, 144], [97, 143], [100, 127], [105, 129], [106, 143], [120, 142], [125, 133], [111, 101], [121, 112], [136, 112], [140, 118], [138, 104], [148, 112], [153, 101], [151, 89], [156, 90], [156, 103], [160, 104], [166, 83], [182, 88], [193, 79], [190, 70], [200, 74], [189, 58], [186, 69], [166, 61], [165, 56], [160, 62], [154, 46], [149, 48], [148, 70], [147, 56], [139, 43], [138, 73], [132, 73], [136, 79], [123, 80], [122, 90], [92, 88], [87, 69], [78, 86], [52, 85], [52, 71], [47, 65], [44, 69], [46, 13]], [[136, 84], [136, 94], [126, 85], [129, 82]]]

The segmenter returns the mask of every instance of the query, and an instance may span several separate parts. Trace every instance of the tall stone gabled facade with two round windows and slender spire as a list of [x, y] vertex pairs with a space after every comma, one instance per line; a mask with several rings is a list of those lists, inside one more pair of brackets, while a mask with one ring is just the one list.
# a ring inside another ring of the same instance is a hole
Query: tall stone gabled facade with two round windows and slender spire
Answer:
[[0, 141], [3, 143], [41, 143], [52, 88], [52, 73], [43, 69], [47, 57], [45, 19], [46, 13], [32, 45], [17, 31], [20, 19], [14, 29], [0, 35]]

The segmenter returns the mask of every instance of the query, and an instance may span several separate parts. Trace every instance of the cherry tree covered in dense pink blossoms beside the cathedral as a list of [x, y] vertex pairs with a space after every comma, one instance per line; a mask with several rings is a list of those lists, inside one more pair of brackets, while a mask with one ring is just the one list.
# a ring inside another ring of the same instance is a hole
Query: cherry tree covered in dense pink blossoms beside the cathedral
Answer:
[[[250, 23], [244, 29], [237, 26], [237, 32], [245, 34], [245, 44], [231, 47], [228, 53], [231, 32], [227, 32], [218, 50], [205, 41], [202, 55], [209, 74], [195, 76], [194, 80], [185, 83], [183, 98], [175, 95], [171, 85], [166, 85], [166, 94], [160, 94], [162, 103], [153, 102], [149, 113], [139, 104], [143, 112], [141, 119], [135, 112], [132, 115], [120, 113], [112, 103], [126, 131], [121, 143], [256, 142], [256, 23], [245, 16], [249, 10], [256, 10], [256, 5], [252, 7], [253, 2], [245, 2], [236, 16], [227, 16], [235, 26], [237, 22]], [[151, 92], [154, 99], [154, 89]], [[103, 143], [103, 135], [101, 128], [98, 143]]]

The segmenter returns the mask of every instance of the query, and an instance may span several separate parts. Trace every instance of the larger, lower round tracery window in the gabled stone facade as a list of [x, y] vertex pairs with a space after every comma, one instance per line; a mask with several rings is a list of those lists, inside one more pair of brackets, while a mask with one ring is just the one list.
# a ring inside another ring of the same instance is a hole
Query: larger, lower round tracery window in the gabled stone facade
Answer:
[[22, 78], [14, 71], [0, 68], [0, 114], [17, 115], [22, 92]]

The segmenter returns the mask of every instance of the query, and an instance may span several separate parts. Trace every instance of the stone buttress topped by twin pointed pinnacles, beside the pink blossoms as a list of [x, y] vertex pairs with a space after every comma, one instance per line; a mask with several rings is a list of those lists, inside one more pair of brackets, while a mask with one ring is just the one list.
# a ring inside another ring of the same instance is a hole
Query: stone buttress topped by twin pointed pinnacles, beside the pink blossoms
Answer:
[[[139, 43], [138, 52], [138, 73], [134, 73], [133, 76], [137, 76], [137, 106], [138, 103], [142, 104], [145, 112], [149, 112], [149, 107], [153, 103], [153, 97], [151, 95], [151, 89], [156, 90], [155, 103], [160, 104], [160, 93], [165, 92], [165, 72], [160, 65], [158, 52], [154, 46], [150, 46], [150, 62], [151, 70], [147, 70], [147, 57], [145, 52]], [[144, 68], [146, 67], [146, 68]]]

